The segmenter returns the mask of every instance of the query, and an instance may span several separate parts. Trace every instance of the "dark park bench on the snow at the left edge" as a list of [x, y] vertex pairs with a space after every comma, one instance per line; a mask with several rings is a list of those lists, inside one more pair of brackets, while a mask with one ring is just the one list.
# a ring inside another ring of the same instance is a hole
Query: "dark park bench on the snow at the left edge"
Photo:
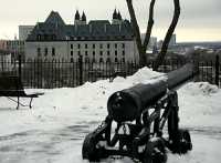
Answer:
[[[27, 94], [22, 85], [21, 79], [17, 75], [2, 75], [0, 77], [0, 96], [6, 96], [9, 100], [17, 102], [17, 110], [19, 105], [32, 108], [31, 103], [33, 98], [38, 98], [43, 93]], [[12, 99], [17, 98], [17, 100]], [[20, 98], [30, 98], [29, 105], [22, 104]]]

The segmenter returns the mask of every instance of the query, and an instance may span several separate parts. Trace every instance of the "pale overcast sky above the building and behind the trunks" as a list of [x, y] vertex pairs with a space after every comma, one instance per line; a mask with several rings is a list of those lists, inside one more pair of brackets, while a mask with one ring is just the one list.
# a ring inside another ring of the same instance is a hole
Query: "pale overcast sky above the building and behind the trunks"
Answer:
[[[150, 0], [134, 0], [140, 29], [146, 30]], [[173, 0], [156, 0], [154, 35], [162, 39], [170, 24]], [[181, 16], [176, 30], [178, 41], [221, 40], [221, 0], [180, 0]], [[73, 23], [75, 10], [84, 10], [87, 20], [112, 19], [114, 9], [129, 19], [126, 0], [1, 0], [0, 39], [12, 39], [19, 24], [44, 21], [51, 10]]]

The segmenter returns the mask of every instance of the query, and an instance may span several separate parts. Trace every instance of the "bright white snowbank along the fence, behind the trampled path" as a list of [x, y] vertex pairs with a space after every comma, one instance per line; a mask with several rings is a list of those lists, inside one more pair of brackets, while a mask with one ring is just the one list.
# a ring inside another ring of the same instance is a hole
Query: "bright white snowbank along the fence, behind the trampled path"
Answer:
[[[30, 128], [61, 128], [80, 121], [102, 121], [107, 114], [106, 102], [112, 93], [160, 75], [164, 74], [143, 68], [131, 77], [117, 77], [113, 82], [102, 80], [86, 82], [78, 88], [27, 90], [45, 93], [34, 99], [32, 110], [21, 108], [15, 111], [13, 102], [0, 98], [0, 119], [3, 122], [0, 124], [0, 134]], [[221, 126], [221, 121], [218, 121], [221, 114], [221, 91], [217, 86], [206, 82], [188, 83], [178, 94], [182, 125]], [[24, 99], [23, 102], [28, 101]]]

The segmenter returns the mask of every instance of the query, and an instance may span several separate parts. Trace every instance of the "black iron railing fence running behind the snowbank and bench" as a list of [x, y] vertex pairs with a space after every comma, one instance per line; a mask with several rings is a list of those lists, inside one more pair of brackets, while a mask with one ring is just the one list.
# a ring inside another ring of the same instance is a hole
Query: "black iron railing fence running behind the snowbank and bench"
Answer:
[[[169, 72], [182, 67], [188, 61], [165, 61], [158, 69], [160, 72]], [[199, 70], [196, 81], [207, 81], [221, 86], [221, 67], [219, 57], [215, 61], [194, 62]], [[149, 63], [151, 68], [152, 63]], [[83, 62], [65, 60], [19, 60], [18, 62], [2, 61], [1, 75], [20, 75], [25, 88], [52, 89], [74, 88], [86, 81], [94, 82], [101, 79], [112, 81], [115, 77], [127, 77], [140, 69], [135, 62]]]

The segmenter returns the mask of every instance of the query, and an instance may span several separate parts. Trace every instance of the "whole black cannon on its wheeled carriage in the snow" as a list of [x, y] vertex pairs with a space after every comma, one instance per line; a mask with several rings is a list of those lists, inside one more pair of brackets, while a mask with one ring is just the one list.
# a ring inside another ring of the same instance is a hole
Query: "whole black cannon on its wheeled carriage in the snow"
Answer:
[[190, 151], [190, 133], [179, 129], [177, 90], [193, 79], [194, 70], [188, 63], [112, 94], [107, 116], [85, 136], [83, 159], [94, 162], [108, 156], [128, 156], [143, 163], [166, 163], [167, 150], [178, 154]]

